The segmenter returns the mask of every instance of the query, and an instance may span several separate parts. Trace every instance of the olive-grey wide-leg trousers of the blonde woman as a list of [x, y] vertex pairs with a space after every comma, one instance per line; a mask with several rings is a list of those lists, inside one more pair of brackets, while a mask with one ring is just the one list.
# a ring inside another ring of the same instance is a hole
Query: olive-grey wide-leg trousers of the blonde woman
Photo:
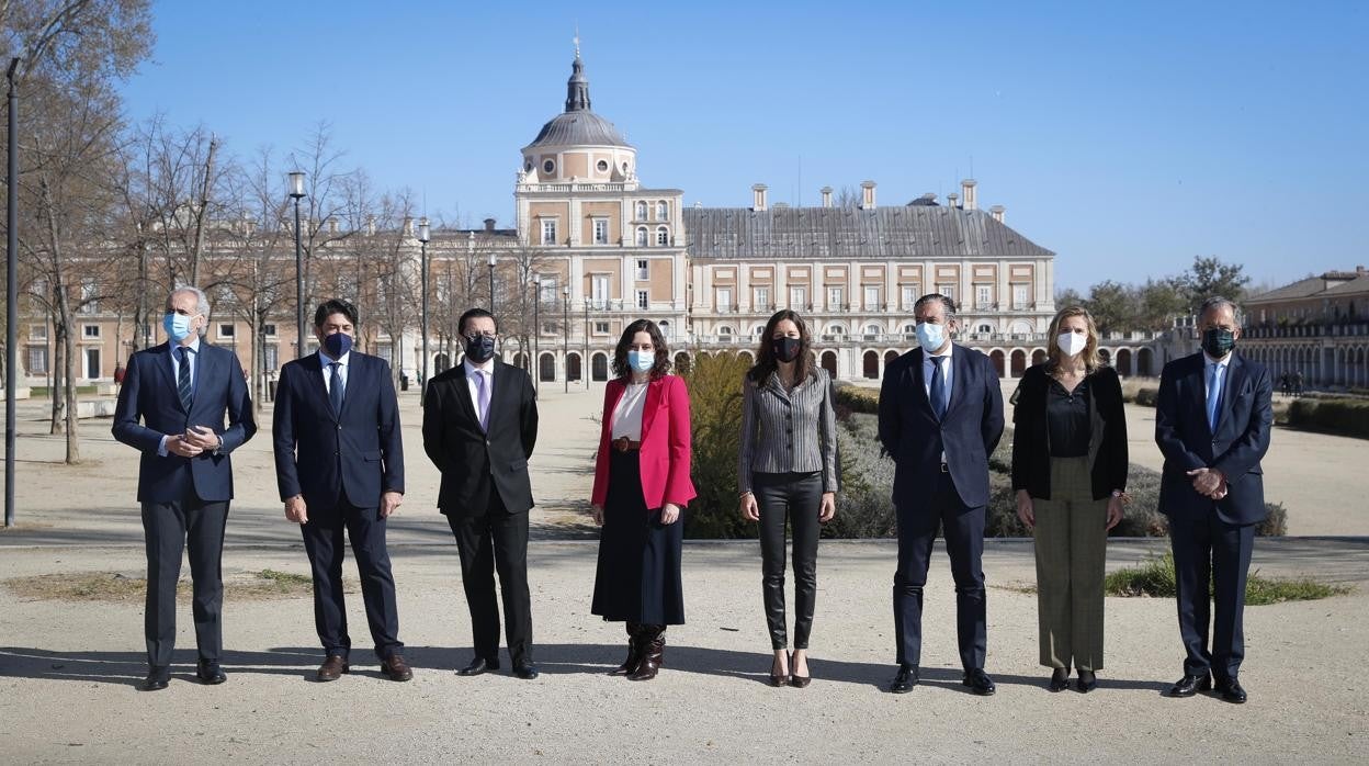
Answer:
[[1040, 663], [1102, 670], [1108, 500], [1094, 500], [1088, 458], [1051, 458], [1050, 496], [1032, 497]]

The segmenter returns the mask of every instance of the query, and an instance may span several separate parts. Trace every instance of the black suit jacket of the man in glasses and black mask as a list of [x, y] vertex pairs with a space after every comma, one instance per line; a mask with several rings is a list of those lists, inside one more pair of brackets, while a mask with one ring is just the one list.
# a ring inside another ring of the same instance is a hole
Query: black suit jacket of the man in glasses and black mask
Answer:
[[465, 365], [433, 378], [423, 401], [423, 449], [442, 471], [437, 507], [449, 515], [482, 515], [490, 491], [509, 512], [533, 507], [527, 459], [537, 444], [537, 395], [519, 367], [494, 360], [490, 430], [481, 428]]

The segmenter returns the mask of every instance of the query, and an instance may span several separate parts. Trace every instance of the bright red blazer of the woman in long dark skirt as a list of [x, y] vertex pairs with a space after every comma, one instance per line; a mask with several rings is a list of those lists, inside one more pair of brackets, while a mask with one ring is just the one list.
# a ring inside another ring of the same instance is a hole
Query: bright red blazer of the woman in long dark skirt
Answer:
[[[627, 384], [622, 378], [608, 382], [604, 389], [604, 423], [600, 429], [600, 449], [594, 460], [594, 493], [590, 502], [602, 506], [608, 499], [609, 436], [613, 410], [623, 397]], [[638, 460], [642, 470], [642, 497], [648, 508], [665, 503], [684, 507], [694, 499], [690, 478], [689, 391], [675, 375], [653, 380], [646, 388], [642, 404], [642, 449]]]

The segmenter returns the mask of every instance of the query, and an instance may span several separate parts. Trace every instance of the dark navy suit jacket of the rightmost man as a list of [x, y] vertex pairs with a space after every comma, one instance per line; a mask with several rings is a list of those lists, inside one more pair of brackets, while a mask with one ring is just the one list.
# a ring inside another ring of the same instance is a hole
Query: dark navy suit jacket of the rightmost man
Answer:
[[[1265, 481], [1259, 460], [1269, 451], [1275, 422], [1269, 370], [1239, 354], [1227, 367], [1217, 433], [1207, 426], [1206, 358], [1198, 354], [1165, 365], [1155, 404], [1155, 443], [1165, 454], [1160, 511], [1201, 518], [1217, 511], [1227, 523], [1264, 521]], [[1212, 500], [1192, 488], [1187, 471], [1210, 467], [1227, 477], [1227, 496]]]

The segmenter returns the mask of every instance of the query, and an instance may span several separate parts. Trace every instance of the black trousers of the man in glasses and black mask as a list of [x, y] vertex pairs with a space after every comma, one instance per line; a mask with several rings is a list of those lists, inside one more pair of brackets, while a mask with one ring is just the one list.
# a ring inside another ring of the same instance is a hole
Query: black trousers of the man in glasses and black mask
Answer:
[[494, 573], [504, 596], [504, 628], [513, 665], [533, 662], [533, 597], [527, 589], [527, 512], [509, 512], [498, 492], [490, 492], [485, 514], [459, 518], [448, 525], [461, 555], [461, 585], [471, 610], [471, 643], [486, 660], [500, 656], [500, 603], [494, 597]]

